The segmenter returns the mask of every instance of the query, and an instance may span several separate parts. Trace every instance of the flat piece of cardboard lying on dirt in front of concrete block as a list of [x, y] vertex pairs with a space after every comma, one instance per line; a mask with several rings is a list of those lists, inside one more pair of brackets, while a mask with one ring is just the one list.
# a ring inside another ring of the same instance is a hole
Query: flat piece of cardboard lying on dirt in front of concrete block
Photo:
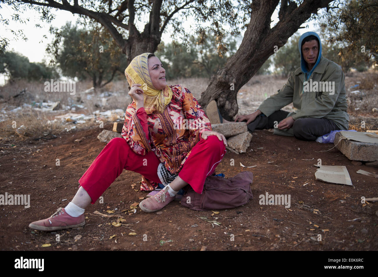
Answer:
[[317, 180], [342, 185], [352, 185], [349, 172], [344, 165], [320, 165], [315, 172]]

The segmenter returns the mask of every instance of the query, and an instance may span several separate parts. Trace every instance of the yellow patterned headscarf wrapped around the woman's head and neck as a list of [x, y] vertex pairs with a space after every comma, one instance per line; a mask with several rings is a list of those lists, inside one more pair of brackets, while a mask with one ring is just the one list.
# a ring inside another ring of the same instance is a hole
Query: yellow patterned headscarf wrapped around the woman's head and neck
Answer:
[[148, 70], [147, 57], [151, 53], [143, 53], [133, 58], [125, 69], [125, 75], [130, 87], [133, 84], [141, 84], [144, 94], [144, 109], [147, 114], [153, 112], [163, 113], [165, 107], [172, 99], [172, 89], [167, 85], [162, 90], [157, 90], [152, 84]]

